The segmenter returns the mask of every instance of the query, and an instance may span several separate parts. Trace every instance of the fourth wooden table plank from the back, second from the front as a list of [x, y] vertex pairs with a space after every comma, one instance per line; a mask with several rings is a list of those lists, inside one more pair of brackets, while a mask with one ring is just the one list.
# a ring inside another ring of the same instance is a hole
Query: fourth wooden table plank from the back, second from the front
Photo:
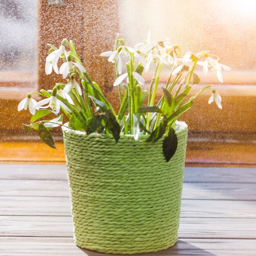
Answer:
[[[0, 216], [0, 236], [73, 236], [71, 217]], [[181, 218], [180, 238], [256, 239], [256, 219]]]

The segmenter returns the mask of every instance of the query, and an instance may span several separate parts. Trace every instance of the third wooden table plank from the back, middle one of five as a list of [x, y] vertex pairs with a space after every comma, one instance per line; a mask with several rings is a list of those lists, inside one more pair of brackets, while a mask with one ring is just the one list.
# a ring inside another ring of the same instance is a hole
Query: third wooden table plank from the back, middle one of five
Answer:
[[[2, 196], [0, 201], [0, 215], [4, 216], [71, 216], [70, 199], [67, 197]], [[181, 217], [256, 218], [256, 202], [183, 199]]]

